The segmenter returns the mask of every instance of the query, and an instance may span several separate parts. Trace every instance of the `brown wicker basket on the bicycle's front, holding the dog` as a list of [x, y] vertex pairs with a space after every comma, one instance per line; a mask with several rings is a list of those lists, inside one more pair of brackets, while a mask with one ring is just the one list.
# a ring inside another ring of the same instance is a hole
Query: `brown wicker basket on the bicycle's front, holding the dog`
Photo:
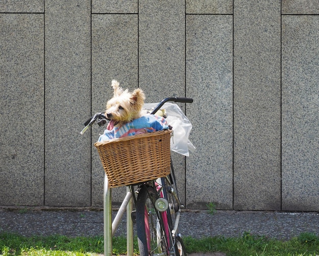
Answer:
[[111, 188], [138, 184], [170, 173], [171, 131], [96, 142]]

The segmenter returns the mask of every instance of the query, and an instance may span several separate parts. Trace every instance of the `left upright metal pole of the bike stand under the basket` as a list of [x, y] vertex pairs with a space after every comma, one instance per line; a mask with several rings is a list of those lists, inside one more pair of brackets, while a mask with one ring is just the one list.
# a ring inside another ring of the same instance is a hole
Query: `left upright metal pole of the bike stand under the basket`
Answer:
[[103, 204], [104, 256], [112, 256], [112, 189], [109, 187], [106, 174], [104, 175]]

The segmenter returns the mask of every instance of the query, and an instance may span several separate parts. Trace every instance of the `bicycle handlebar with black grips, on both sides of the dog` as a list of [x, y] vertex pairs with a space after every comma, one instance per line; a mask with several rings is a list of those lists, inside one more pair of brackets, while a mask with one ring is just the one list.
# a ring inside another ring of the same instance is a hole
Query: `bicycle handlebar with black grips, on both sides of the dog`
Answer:
[[[163, 99], [160, 103], [157, 104], [155, 109], [151, 112], [151, 114], [155, 114], [167, 101], [174, 101], [180, 103], [193, 103], [192, 98], [184, 98], [184, 97], [169, 97]], [[83, 135], [86, 130], [97, 120], [97, 124], [99, 126], [104, 125], [109, 119], [104, 115], [104, 113], [96, 113], [94, 116], [91, 116], [85, 123], [84, 129], [81, 131]]]

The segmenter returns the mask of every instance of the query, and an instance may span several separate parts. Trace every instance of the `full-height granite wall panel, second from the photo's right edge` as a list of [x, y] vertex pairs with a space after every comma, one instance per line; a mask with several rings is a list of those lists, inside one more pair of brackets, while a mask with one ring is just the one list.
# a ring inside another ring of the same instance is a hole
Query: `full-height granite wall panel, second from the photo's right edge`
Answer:
[[234, 1], [234, 209], [280, 210], [280, 1]]

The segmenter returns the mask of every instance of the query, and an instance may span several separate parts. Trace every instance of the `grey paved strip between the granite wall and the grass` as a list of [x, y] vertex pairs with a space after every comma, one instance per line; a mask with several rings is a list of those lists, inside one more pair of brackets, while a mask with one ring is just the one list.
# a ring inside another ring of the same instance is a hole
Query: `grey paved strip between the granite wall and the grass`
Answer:
[[[114, 212], [115, 214], [115, 212]], [[278, 239], [289, 239], [302, 232], [319, 235], [317, 212], [262, 211], [184, 211], [180, 220], [181, 234], [196, 238], [204, 236], [238, 237], [244, 232]], [[126, 220], [122, 218], [116, 235], [125, 235]], [[103, 212], [92, 209], [0, 208], [0, 232], [24, 236], [60, 234], [66, 236], [103, 235]]]

